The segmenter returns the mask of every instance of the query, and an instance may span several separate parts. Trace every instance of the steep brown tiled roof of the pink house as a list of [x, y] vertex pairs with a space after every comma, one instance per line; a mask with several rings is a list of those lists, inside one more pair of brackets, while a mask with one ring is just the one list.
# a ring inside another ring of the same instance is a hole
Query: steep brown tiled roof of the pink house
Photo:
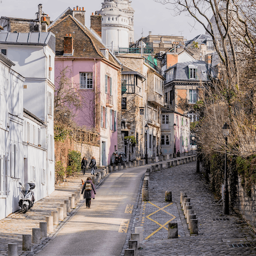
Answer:
[[[60, 15], [58, 20], [55, 20], [49, 30], [56, 36], [56, 55], [61, 57], [63, 55], [63, 42], [66, 34], [73, 36], [73, 57], [85, 58], [99, 58], [106, 59], [105, 55], [101, 52], [102, 49], [107, 49], [99, 37], [93, 31], [70, 14], [71, 9], [68, 8], [66, 12]], [[70, 26], [74, 25], [75, 31], [70, 30]], [[75, 33], [74, 33], [75, 32]], [[98, 37], [98, 38], [97, 38]], [[109, 51], [109, 61], [115, 65], [121, 66], [121, 63]]]

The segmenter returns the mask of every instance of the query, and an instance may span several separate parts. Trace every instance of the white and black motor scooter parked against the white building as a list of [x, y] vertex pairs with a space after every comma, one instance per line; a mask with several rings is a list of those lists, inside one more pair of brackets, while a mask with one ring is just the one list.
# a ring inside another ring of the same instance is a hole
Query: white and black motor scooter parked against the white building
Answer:
[[[22, 184], [19, 182], [22, 186]], [[21, 207], [21, 212], [26, 213], [31, 209], [35, 202], [34, 189], [36, 187], [35, 183], [25, 183], [20, 190], [19, 196], [19, 206]]]

